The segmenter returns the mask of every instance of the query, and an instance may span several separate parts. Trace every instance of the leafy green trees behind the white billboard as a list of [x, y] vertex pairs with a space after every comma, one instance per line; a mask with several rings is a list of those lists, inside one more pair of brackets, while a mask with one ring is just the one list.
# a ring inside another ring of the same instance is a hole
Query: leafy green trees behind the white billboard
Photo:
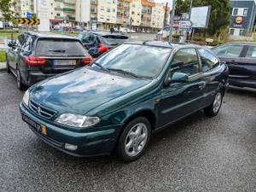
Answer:
[[[189, 13], [189, 4], [190, 0], [177, 0], [177, 15]], [[208, 5], [212, 5], [212, 11], [207, 32], [214, 35], [230, 24], [230, 0], [194, 0], [193, 2], [193, 7]]]

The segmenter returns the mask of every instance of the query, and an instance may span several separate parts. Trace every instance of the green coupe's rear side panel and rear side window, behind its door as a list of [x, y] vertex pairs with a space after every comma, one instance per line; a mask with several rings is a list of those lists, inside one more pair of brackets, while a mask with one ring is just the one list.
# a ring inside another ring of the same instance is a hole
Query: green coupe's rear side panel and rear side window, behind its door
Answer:
[[223, 69], [218, 57], [210, 50], [200, 48], [198, 49], [198, 53], [201, 58], [201, 69], [206, 79], [202, 105], [207, 107], [212, 103], [216, 91], [218, 90], [220, 83], [219, 77], [221, 73], [223, 73]]

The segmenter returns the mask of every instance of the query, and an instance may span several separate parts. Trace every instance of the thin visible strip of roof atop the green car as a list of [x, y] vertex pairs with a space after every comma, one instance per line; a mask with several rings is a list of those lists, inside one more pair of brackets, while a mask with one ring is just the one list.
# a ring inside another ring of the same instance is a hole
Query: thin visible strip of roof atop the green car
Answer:
[[163, 48], [204, 48], [207, 49], [206, 47], [202, 47], [197, 44], [170, 44], [169, 42], [166, 41], [142, 41], [142, 42], [126, 42], [125, 44], [144, 44], [144, 45], [149, 45], [149, 46], [154, 46], [154, 47], [163, 47]]

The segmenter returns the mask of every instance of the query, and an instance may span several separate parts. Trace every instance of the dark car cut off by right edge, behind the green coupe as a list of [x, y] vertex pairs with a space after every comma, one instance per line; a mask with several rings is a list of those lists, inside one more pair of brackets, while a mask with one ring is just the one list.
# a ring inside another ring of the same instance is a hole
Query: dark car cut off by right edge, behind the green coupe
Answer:
[[212, 49], [230, 68], [229, 82], [239, 87], [256, 88], [256, 44], [229, 43]]

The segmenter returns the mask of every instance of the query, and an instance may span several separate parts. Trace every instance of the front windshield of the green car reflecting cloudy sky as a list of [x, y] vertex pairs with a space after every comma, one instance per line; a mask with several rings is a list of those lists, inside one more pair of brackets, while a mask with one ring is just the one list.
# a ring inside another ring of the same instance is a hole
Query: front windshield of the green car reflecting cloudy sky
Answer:
[[165, 66], [170, 48], [122, 44], [96, 61], [108, 71], [133, 74], [143, 78], [157, 76]]

